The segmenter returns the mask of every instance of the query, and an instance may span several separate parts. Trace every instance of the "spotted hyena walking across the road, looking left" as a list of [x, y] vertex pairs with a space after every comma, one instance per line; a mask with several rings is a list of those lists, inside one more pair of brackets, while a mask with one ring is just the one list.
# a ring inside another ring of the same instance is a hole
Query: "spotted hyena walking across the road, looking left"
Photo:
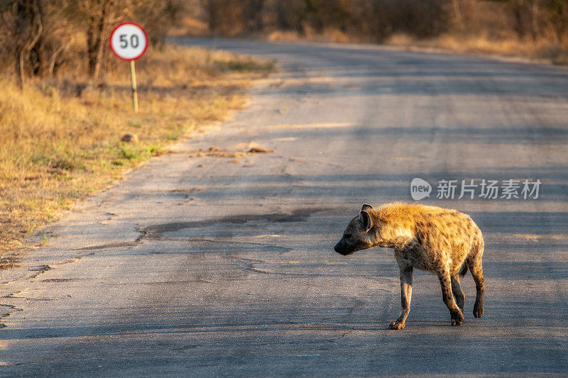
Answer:
[[477, 289], [474, 316], [483, 316], [485, 286], [481, 257], [484, 237], [466, 214], [420, 204], [384, 204], [378, 209], [365, 204], [359, 216], [349, 222], [334, 250], [350, 255], [376, 246], [393, 248], [400, 269], [402, 311], [389, 329], [405, 326], [410, 312], [413, 268], [437, 274], [452, 326], [459, 326], [464, 321], [465, 297], [459, 277], [464, 277], [469, 268]]

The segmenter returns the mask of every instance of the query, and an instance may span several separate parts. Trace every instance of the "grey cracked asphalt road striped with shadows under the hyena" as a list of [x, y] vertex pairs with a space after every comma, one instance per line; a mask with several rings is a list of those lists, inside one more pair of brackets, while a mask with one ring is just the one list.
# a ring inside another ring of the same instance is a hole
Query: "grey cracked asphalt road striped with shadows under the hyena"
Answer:
[[[280, 71], [231, 121], [42, 230], [48, 245], [1, 272], [1, 376], [568, 374], [567, 69], [178, 42]], [[195, 156], [250, 145], [275, 152]], [[433, 186], [421, 203], [469, 213], [485, 235], [485, 316], [468, 274], [460, 327], [437, 277], [416, 272], [406, 328], [387, 330], [393, 252], [332, 249], [361, 204], [413, 201], [415, 177]], [[437, 199], [444, 179], [542, 184], [537, 199], [458, 199], [459, 187]]]

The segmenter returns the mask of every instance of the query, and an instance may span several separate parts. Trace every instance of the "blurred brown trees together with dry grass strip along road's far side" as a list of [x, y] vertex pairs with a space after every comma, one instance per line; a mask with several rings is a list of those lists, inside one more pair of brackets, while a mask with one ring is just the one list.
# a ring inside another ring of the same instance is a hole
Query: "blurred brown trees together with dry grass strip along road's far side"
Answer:
[[568, 0], [203, 0], [185, 33], [544, 57], [567, 63]]

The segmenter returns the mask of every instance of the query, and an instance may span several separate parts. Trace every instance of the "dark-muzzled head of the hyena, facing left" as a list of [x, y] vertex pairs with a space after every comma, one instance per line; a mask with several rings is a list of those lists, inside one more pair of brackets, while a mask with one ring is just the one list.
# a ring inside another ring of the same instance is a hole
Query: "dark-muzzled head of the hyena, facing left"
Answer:
[[343, 237], [335, 245], [335, 252], [345, 256], [374, 246], [373, 220], [368, 213], [371, 209], [373, 209], [373, 206], [367, 204], [361, 207], [361, 213], [349, 222]]

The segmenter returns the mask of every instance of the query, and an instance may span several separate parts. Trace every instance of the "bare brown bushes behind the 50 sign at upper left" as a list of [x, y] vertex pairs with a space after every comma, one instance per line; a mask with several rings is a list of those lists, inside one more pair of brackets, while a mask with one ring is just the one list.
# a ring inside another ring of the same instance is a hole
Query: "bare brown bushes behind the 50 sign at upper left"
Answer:
[[13, 67], [20, 84], [62, 70], [97, 79], [113, 62], [105, 48], [111, 27], [141, 23], [160, 47], [187, 6], [183, 0], [2, 0], [0, 68]]

